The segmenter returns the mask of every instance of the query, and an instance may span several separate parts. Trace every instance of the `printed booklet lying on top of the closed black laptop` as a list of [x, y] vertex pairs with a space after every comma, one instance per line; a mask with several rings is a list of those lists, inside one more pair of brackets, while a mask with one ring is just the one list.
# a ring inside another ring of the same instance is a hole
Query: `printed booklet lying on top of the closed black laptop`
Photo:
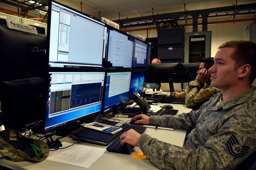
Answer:
[[115, 134], [123, 129], [123, 128], [119, 128], [119, 127], [115, 127], [115, 126], [111, 126], [111, 125], [98, 123], [96, 121], [92, 122], [92, 123], [88, 123], [88, 124], [84, 125], [83, 127], [94, 129], [94, 130], [99, 130], [99, 131], [110, 133], [110, 134]]

